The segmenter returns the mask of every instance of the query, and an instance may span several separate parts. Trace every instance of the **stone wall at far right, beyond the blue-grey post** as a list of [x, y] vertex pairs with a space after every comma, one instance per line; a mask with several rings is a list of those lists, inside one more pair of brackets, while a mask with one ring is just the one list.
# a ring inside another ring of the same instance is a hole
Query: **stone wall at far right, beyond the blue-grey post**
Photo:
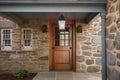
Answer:
[[119, 0], [107, 0], [106, 44], [108, 80], [120, 80]]

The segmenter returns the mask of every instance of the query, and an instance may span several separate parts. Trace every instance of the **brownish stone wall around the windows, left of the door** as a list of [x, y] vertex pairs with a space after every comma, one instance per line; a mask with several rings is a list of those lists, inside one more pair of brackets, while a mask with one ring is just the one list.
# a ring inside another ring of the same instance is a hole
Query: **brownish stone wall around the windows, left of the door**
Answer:
[[[41, 26], [47, 24], [45, 20], [29, 20], [19, 26], [11, 27], [13, 29], [13, 51], [0, 51], [0, 73], [11, 73], [20, 69], [26, 69], [32, 73], [49, 70], [48, 32], [41, 31]], [[22, 28], [33, 29], [33, 51], [22, 51]]]

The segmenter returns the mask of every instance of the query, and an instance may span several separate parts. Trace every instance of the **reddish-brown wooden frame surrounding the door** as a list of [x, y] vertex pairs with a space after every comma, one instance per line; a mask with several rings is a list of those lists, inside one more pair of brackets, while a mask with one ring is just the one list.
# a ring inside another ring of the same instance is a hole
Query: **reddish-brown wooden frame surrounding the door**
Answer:
[[[55, 23], [57, 24], [57, 20], [49, 20], [49, 70], [53, 70], [53, 26], [55, 25]], [[73, 63], [72, 63], [72, 70], [76, 71], [76, 25], [75, 25], [75, 21], [74, 20], [66, 20], [66, 24], [72, 24], [72, 32], [73, 32], [73, 36], [72, 36], [72, 44], [73, 44]]]

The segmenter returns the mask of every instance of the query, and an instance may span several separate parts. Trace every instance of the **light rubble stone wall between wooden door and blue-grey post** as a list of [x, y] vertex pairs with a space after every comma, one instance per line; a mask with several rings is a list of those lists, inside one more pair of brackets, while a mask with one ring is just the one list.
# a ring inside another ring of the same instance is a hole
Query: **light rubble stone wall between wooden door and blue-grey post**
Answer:
[[76, 33], [76, 69], [80, 72], [100, 72], [101, 18], [90, 25], [77, 21], [78, 25], [82, 25], [82, 33]]

